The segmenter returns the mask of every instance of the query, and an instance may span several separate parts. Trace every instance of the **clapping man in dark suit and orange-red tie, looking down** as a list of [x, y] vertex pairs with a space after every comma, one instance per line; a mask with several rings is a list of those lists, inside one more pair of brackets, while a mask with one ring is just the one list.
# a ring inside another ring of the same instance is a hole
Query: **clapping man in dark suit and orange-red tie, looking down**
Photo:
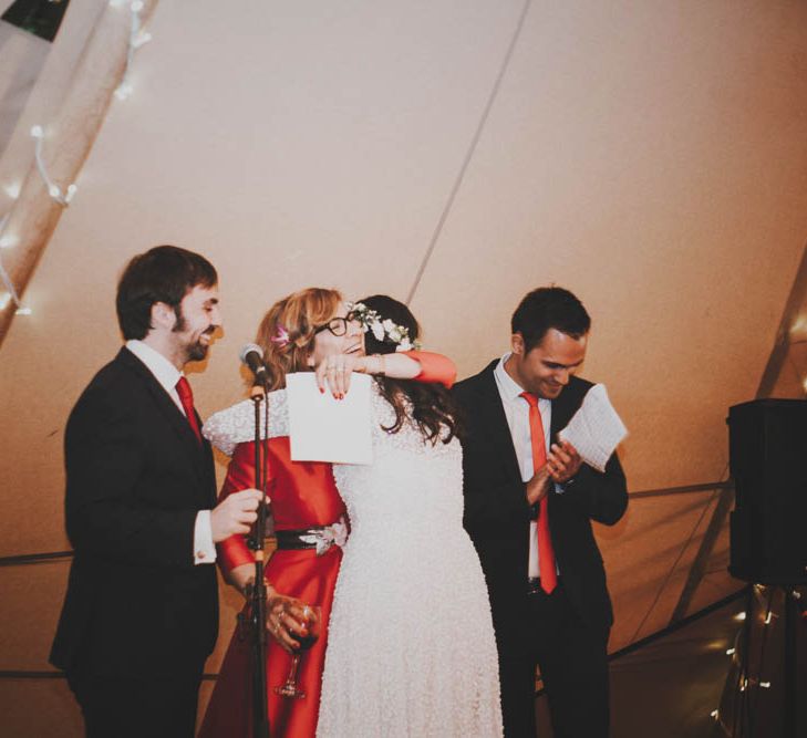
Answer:
[[573, 376], [590, 324], [571, 292], [535, 290], [513, 315], [511, 352], [455, 386], [465, 527], [490, 594], [508, 738], [536, 735], [536, 665], [556, 738], [608, 735], [613, 615], [591, 520], [622, 517], [625, 479], [615, 454], [601, 474], [557, 438], [592, 386]]

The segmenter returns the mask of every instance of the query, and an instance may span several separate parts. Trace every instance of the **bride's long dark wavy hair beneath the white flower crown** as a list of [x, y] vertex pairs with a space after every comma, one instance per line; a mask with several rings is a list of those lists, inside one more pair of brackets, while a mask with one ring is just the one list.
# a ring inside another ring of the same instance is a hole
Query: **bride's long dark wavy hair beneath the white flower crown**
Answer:
[[[414, 342], [420, 333], [412, 311], [397, 300], [385, 294], [374, 294], [360, 300], [371, 310], [374, 310], [381, 320], [391, 320], [396, 325], [402, 325], [408, 331], [410, 341]], [[368, 354], [392, 354], [397, 344], [389, 340], [384, 333], [384, 340], [379, 341], [368, 331], [364, 334], [364, 347]], [[381, 394], [395, 410], [395, 423], [384, 430], [397, 433], [407, 417], [406, 401], [412, 404], [412, 417], [417, 424], [423, 437], [436, 445], [438, 440], [447, 444], [455, 436], [462, 440], [463, 424], [458, 407], [448, 389], [442, 384], [415, 382], [414, 380], [395, 380], [389, 376], [375, 377]]]

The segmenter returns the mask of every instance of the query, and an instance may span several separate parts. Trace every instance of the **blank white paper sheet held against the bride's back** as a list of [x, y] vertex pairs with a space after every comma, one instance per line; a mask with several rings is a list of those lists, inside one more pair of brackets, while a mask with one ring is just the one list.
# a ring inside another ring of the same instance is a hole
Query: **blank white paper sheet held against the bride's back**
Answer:
[[321, 394], [313, 372], [286, 375], [292, 461], [372, 464], [370, 377], [353, 374], [344, 399]]

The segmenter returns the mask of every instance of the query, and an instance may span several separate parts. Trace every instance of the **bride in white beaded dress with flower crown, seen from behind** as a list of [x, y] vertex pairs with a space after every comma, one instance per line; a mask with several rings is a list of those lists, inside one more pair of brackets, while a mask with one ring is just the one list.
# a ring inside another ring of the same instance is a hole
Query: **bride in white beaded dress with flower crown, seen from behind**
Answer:
[[[368, 354], [417, 337], [384, 295], [354, 305]], [[317, 735], [501, 735], [487, 589], [463, 529], [462, 449], [445, 388], [380, 377], [372, 465], [334, 465], [351, 534], [329, 625]]]

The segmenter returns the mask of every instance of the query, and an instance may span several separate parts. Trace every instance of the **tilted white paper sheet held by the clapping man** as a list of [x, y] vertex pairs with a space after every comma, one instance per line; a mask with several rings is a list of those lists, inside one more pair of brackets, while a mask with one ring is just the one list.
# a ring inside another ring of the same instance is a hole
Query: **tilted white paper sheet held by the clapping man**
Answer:
[[606, 470], [614, 449], [628, 435], [628, 428], [608, 399], [604, 384], [588, 391], [582, 405], [558, 436], [568, 440], [589, 466]]

